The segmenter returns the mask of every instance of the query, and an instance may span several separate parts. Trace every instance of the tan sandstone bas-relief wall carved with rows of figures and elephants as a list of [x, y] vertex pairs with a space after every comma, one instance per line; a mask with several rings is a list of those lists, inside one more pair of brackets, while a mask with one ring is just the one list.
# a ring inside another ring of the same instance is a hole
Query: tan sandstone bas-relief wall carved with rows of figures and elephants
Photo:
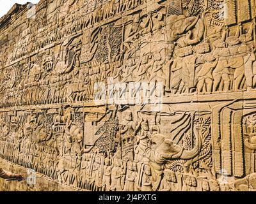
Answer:
[[255, 7], [40, 1], [1, 25], [1, 159], [84, 191], [255, 191]]

